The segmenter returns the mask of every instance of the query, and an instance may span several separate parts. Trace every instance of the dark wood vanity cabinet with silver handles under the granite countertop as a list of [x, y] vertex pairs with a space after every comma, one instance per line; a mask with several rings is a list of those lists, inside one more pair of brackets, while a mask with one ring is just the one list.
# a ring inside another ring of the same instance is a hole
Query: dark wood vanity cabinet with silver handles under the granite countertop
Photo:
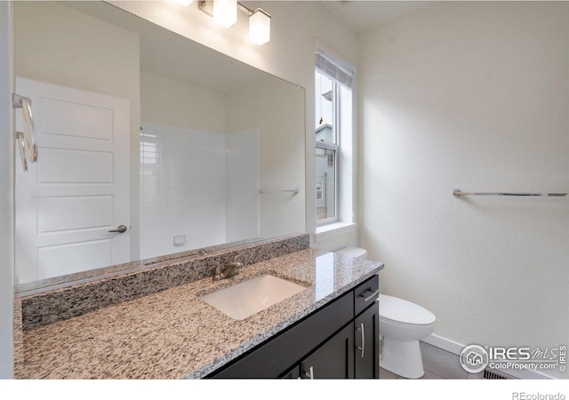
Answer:
[[378, 288], [372, 276], [206, 378], [379, 378]]

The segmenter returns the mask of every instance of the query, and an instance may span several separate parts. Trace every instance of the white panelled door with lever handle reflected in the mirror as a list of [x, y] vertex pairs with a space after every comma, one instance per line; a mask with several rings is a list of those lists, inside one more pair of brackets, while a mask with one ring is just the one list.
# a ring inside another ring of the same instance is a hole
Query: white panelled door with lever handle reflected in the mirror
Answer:
[[28, 172], [16, 159], [18, 283], [129, 261], [128, 100], [23, 78], [16, 92], [32, 100], [38, 151]]

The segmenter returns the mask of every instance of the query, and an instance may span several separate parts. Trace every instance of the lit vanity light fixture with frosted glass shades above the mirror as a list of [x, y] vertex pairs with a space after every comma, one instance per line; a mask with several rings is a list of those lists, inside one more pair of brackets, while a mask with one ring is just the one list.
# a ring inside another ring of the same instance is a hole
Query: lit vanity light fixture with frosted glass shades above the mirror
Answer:
[[[236, 22], [237, 10], [246, 12], [249, 16], [249, 40], [258, 45], [266, 44], [270, 40], [270, 15], [260, 8], [251, 10], [236, 0], [199, 1], [197, 8], [212, 16], [225, 28]], [[229, 14], [231, 17], [228, 17]]]

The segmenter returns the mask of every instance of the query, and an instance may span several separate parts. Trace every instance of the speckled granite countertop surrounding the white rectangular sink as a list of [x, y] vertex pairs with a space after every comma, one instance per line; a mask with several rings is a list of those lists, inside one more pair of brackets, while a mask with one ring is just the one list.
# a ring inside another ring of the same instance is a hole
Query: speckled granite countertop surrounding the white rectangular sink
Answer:
[[[20, 379], [203, 378], [236, 356], [377, 274], [383, 265], [315, 249], [205, 278], [23, 332]], [[198, 299], [271, 274], [306, 290], [244, 320]]]

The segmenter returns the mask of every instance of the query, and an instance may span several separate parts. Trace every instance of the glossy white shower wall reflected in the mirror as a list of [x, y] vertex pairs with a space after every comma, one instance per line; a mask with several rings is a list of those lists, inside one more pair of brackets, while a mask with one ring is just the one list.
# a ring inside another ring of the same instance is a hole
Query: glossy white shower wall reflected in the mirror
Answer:
[[141, 259], [259, 236], [256, 130], [141, 128]]

